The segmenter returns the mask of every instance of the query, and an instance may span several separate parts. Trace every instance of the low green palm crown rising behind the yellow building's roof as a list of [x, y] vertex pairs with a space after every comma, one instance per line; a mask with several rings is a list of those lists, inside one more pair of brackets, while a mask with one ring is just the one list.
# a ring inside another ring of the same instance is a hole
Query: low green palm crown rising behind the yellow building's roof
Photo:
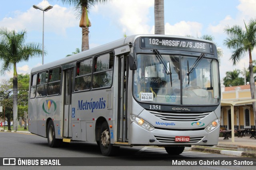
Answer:
[[226, 77], [224, 77], [224, 86], [241, 86], [244, 85], [244, 78], [239, 77], [241, 74], [240, 70], [227, 71]]

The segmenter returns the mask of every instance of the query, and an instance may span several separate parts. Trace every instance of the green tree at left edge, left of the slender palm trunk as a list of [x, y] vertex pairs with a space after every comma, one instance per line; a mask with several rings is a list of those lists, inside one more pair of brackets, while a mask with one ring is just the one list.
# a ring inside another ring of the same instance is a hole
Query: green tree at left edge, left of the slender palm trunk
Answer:
[[0, 97], [4, 98], [1, 103], [3, 104], [3, 112], [0, 112], [0, 117], [7, 119], [8, 130], [11, 130], [12, 117], [12, 80], [3, 79], [0, 82]]

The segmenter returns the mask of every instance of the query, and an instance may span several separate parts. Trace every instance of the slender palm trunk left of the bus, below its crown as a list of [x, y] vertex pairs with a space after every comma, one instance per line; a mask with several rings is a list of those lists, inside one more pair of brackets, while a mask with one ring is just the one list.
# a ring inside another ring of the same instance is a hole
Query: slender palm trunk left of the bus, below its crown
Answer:
[[16, 71], [16, 63], [14, 64], [14, 73], [13, 73], [13, 130], [17, 131], [18, 129], [18, 77]]

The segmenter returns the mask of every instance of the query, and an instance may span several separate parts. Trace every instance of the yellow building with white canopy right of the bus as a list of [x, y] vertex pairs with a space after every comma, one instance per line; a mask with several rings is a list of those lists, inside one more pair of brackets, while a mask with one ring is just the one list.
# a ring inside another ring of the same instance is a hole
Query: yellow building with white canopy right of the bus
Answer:
[[234, 129], [255, 129], [250, 85], [225, 87], [221, 84], [221, 93], [220, 127], [232, 129], [233, 109]]

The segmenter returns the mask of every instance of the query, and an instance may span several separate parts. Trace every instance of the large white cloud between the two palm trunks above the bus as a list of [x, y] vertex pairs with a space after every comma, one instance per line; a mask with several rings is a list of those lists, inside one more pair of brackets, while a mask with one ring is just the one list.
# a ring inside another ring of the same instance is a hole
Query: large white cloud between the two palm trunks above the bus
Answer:
[[151, 7], [154, 0], [115, 0], [96, 5], [91, 12], [108, 18], [127, 35], [148, 34], [152, 29], [148, 22], [154, 20], [149, 14]]

